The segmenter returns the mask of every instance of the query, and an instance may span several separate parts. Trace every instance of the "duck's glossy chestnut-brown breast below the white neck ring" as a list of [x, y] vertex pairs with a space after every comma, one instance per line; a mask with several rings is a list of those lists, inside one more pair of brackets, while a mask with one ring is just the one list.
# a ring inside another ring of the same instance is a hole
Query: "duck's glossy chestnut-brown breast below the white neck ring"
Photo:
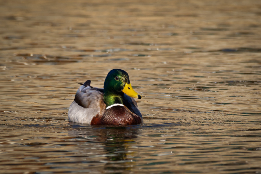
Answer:
[[113, 106], [106, 110], [103, 115], [93, 117], [91, 125], [133, 125], [142, 120], [136, 114], [128, 111], [124, 106]]

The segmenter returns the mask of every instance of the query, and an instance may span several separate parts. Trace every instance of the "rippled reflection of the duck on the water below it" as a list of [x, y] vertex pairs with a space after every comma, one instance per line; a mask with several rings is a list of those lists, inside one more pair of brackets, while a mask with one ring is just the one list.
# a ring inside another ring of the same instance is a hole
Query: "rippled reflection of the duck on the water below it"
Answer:
[[[70, 125], [82, 124], [71, 122]], [[138, 128], [135, 126], [106, 128], [83, 126], [81, 129], [69, 131], [68, 134], [70, 137], [79, 138], [78, 152], [75, 154], [84, 156], [83, 162], [88, 164], [90, 162], [89, 167], [93, 168], [88, 168], [88, 170], [119, 173], [131, 170], [131, 166], [136, 166], [136, 162], [131, 159], [137, 154], [134, 154], [135, 152], [132, 152], [129, 146], [137, 146]]]

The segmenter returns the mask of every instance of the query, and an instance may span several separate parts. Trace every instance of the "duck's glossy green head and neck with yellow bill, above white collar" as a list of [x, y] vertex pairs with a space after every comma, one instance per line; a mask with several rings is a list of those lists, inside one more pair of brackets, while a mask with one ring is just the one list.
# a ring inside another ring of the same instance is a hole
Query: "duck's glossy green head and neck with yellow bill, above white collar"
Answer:
[[128, 73], [121, 69], [111, 70], [104, 81], [104, 103], [110, 106], [115, 103], [123, 104], [123, 95], [141, 99], [131, 87]]

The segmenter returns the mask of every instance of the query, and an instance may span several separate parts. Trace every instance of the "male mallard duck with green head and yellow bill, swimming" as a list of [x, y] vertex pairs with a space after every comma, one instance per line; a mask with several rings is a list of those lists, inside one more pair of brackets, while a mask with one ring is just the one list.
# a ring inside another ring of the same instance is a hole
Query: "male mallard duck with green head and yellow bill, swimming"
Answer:
[[91, 125], [133, 125], [142, 122], [142, 114], [133, 99], [142, 97], [131, 87], [128, 73], [111, 70], [104, 88], [90, 86], [90, 80], [81, 84], [68, 110], [70, 122]]

